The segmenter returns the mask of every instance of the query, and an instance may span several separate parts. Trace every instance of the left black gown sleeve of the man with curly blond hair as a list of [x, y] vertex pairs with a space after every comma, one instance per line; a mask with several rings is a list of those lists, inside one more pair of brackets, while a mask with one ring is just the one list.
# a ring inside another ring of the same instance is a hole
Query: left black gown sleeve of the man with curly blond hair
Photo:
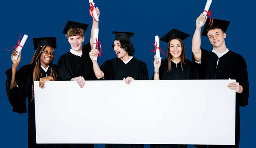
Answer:
[[63, 55], [58, 60], [58, 69], [57, 69], [58, 76], [63, 81], [70, 81], [74, 74], [72, 72], [72, 66], [70, 65], [69, 59], [66, 55]]

